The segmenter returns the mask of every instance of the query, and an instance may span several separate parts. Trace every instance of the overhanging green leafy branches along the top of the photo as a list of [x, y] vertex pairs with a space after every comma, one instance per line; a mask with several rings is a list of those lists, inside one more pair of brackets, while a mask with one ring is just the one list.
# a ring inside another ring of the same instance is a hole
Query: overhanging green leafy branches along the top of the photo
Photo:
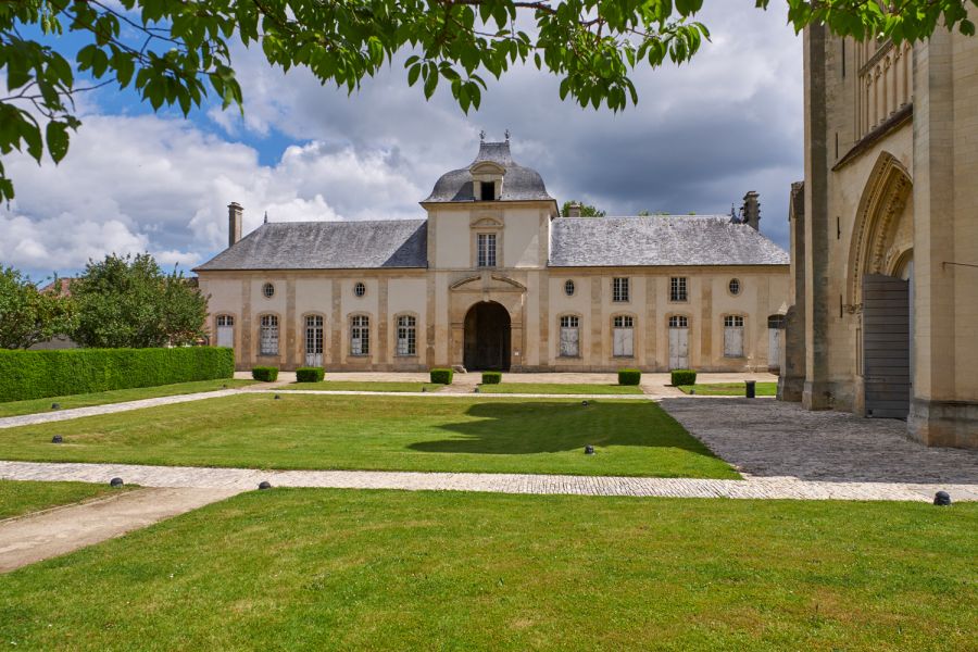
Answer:
[[[726, 0], [714, 0], [715, 2]], [[785, 0], [795, 30], [824, 23], [856, 39], [918, 40], [940, 24], [974, 34], [978, 0]], [[770, 0], [755, 0], [766, 9]], [[154, 110], [186, 115], [214, 92], [242, 106], [231, 46], [260, 46], [272, 65], [309, 68], [355, 90], [404, 52], [408, 84], [430, 98], [450, 87], [478, 109], [486, 78], [531, 63], [560, 77], [560, 97], [613, 111], [638, 101], [640, 65], [689, 61], [706, 26], [703, 0], [8, 0], [0, 2], [0, 154], [57, 163], [80, 122], [71, 62], [52, 43], [65, 30], [84, 45], [77, 71], [95, 86], [134, 88]], [[532, 25], [525, 30], [521, 25]], [[27, 32], [25, 36], [24, 33]], [[42, 38], [32, 35], [41, 34]], [[0, 200], [14, 197], [0, 162]]]

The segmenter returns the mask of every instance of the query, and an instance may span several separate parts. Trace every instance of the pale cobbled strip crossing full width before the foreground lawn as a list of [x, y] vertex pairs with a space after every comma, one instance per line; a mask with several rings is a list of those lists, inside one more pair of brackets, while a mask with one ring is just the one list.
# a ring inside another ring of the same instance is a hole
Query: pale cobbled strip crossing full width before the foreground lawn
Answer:
[[832, 482], [791, 477], [743, 480], [644, 478], [569, 475], [415, 473], [389, 471], [261, 471], [136, 464], [0, 462], [0, 479], [108, 482], [121, 477], [143, 487], [255, 489], [273, 487], [402, 489], [408, 491], [482, 491], [663, 498], [931, 501], [938, 490], [954, 501], [978, 501], [978, 484]]

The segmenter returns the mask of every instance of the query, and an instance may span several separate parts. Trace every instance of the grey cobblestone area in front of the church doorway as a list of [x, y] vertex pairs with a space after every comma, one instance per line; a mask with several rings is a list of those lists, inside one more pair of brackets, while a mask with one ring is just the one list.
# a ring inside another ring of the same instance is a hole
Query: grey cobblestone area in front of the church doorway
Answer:
[[749, 399], [664, 399], [660, 405], [752, 476], [978, 488], [978, 451], [925, 447], [907, 438], [902, 421]]

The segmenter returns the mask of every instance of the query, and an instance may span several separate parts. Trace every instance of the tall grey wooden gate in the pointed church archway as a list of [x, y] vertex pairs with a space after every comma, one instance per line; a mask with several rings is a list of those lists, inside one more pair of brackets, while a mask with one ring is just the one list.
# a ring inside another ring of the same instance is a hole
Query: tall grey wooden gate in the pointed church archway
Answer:
[[863, 378], [866, 416], [906, 418], [911, 401], [910, 284], [863, 276]]

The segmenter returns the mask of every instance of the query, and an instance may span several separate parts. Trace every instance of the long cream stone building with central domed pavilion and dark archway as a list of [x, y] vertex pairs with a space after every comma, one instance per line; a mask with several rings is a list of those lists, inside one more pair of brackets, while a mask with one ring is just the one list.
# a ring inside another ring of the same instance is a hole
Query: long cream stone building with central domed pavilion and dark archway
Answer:
[[[264, 224], [196, 271], [212, 341], [336, 371], [768, 369], [788, 254], [729, 215], [560, 217], [510, 142], [482, 142], [423, 220]], [[768, 328], [773, 325], [775, 328]]]

